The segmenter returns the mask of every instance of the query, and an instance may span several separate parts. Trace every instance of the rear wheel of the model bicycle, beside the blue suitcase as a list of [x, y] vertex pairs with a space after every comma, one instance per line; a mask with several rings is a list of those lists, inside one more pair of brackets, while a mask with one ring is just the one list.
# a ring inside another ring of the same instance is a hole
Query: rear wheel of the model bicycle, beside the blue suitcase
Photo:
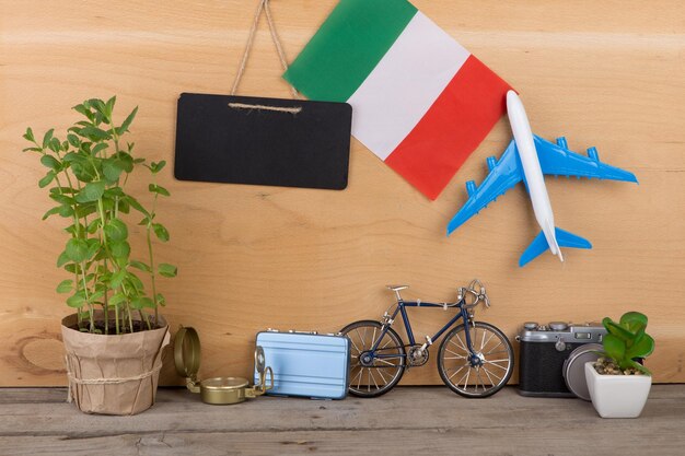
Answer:
[[340, 330], [350, 340], [350, 385], [349, 391], [358, 397], [376, 397], [390, 391], [404, 374], [405, 349], [402, 339], [387, 328], [379, 341], [376, 354], [371, 362], [362, 364], [361, 355], [373, 347], [381, 336], [382, 325], [373, 320], [360, 320], [347, 325]]

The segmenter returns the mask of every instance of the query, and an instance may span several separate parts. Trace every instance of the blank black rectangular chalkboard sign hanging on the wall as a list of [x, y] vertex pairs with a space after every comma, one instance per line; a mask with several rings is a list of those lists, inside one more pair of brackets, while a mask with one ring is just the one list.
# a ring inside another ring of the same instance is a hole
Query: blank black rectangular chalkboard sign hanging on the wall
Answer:
[[177, 179], [347, 187], [347, 103], [183, 93], [177, 113]]

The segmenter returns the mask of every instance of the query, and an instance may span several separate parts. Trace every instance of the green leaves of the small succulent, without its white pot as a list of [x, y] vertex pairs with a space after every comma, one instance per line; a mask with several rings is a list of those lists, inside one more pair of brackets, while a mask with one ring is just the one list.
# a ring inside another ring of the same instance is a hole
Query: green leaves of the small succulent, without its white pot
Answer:
[[645, 332], [647, 316], [639, 312], [625, 313], [618, 323], [606, 317], [602, 325], [607, 330], [604, 336], [604, 356], [612, 359], [622, 371], [635, 369], [646, 375], [651, 372], [638, 359], [645, 359], [654, 351], [654, 339]]

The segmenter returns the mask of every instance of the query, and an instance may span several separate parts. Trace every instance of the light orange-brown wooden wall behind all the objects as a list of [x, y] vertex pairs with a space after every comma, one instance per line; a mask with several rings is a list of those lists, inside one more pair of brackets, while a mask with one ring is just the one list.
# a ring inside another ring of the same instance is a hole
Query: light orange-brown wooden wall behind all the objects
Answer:
[[[292, 59], [335, 0], [274, 2]], [[639, 186], [547, 179], [559, 226], [588, 237], [591, 252], [544, 256], [519, 269], [537, 234], [522, 188], [444, 237], [465, 201], [465, 180], [486, 175], [510, 131], [501, 120], [434, 202], [353, 141], [345, 191], [182, 183], [165, 169], [172, 199], [159, 217], [172, 241], [158, 257], [179, 267], [162, 288], [172, 324], [202, 338], [201, 375], [247, 376], [254, 336], [266, 327], [337, 330], [378, 318], [386, 283], [409, 296], [446, 301], [483, 279], [492, 307], [478, 317], [514, 337], [525, 320], [585, 321], [639, 309], [650, 317], [655, 382], [685, 382], [685, 9], [678, 1], [415, 0], [415, 4], [522, 94], [534, 130], [596, 145]], [[0, 0], [0, 385], [63, 385], [54, 268], [66, 242], [36, 183], [21, 135], [65, 129], [69, 109], [92, 96], [138, 105], [139, 153], [173, 163], [181, 92], [230, 90], [254, 0]], [[655, 13], [659, 12], [659, 13]], [[263, 24], [265, 25], [265, 24]], [[242, 94], [289, 96], [266, 27]], [[143, 183], [132, 189], [144, 192]], [[136, 248], [136, 244], [133, 248]], [[140, 247], [140, 244], [138, 245]], [[442, 311], [414, 312], [417, 335]], [[515, 382], [515, 377], [512, 379]], [[166, 384], [177, 382], [171, 366]], [[438, 384], [430, 364], [404, 384]]]

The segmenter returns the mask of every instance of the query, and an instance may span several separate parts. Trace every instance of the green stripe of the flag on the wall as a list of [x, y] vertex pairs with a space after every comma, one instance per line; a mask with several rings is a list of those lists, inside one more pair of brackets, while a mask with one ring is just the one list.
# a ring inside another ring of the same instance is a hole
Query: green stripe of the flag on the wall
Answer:
[[416, 12], [405, 0], [340, 0], [283, 78], [310, 100], [346, 102]]

